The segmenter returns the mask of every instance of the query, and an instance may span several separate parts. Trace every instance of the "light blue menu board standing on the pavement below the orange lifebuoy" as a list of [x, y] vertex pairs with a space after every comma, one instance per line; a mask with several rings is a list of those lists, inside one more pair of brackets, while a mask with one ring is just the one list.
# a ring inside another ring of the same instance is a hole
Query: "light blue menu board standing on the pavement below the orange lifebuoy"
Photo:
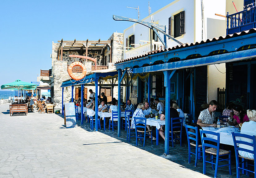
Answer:
[[76, 127], [75, 104], [74, 103], [65, 103], [64, 110], [65, 110], [66, 128]]

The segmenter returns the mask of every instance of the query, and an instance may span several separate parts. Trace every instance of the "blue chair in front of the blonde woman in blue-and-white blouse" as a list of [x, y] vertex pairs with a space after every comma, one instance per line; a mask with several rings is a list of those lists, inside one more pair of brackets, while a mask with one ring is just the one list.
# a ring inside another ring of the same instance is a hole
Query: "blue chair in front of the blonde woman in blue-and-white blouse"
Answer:
[[[136, 121], [136, 119], [139, 119], [140, 121]], [[140, 139], [141, 143], [142, 143], [142, 138], [144, 139], [143, 147], [145, 147], [145, 141], [149, 139], [151, 139], [151, 145], [153, 145], [152, 130], [146, 129], [147, 118], [134, 117], [134, 123], [135, 123], [136, 146], [138, 146], [138, 138]], [[146, 138], [146, 133], [149, 133], [149, 136], [151, 136], [151, 138]]]

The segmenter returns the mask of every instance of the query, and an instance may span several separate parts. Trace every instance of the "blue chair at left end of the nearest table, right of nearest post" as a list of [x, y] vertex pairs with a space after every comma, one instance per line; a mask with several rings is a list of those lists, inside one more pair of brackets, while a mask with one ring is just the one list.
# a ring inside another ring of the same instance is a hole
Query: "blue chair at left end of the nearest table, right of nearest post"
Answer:
[[[188, 126], [185, 125], [187, 137], [188, 137], [188, 163], [190, 163], [191, 159], [191, 154], [194, 154], [196, 156], [195, 159], [195, 167], [197, 166], [197, 160], [201, 159], [203, 156], [201, 155], [202, 153], [202, 145], [199, 145], [199, 140], [198, 140], [198, 130], [197, 127], [193, 126]], [[188, 129], [193, 129], [195, 132], [191, 132]], [[194, 137], [193, 137], [194, 136]], [[194, 140], [194, 142], [190, 142], [190, 140]], [[191, 145], [194, 146], [195, 148], [191, 148]], [[195, 149], [195, 152], [192, 152], [191, 149]]]

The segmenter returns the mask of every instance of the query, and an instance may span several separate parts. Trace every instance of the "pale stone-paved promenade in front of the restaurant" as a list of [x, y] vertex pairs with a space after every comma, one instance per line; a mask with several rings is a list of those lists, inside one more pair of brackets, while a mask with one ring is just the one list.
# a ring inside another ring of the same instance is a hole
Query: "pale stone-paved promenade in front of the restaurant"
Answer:
[[[9, 116], [9, 104], [0, 105], [0, 177], [213, 177], [207, 165], [188, 164], [184, 143], [170, 147], [167, 159], [161, 157], [163, 142], [143, 147], [126, 141], [126, 132], [90, 130], [89, 124], [66, 129], [60, 114], [29, 112], [27, 116]], [[154, 142], [153, 142], [154, 143]], [[155, 143], [154, 143], [155, 144]], [[193, 159], [194, 157], [192, 157]], [[232, 166], [235, 175], [235, 163]], [[229, 176], [221, 167], [218, 177]], [[245, 177], [244, 175], [241, 177]]]

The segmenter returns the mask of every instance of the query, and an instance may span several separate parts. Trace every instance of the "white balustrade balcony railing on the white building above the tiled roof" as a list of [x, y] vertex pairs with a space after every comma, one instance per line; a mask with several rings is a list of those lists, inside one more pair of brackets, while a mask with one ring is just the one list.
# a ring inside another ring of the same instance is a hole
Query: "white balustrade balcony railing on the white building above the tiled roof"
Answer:
[[[152, 41], [152, 51], [161, 50], [161, 49], [164, 49], [164, 45], [161, 42], [153, 40]], [[150, 43], [143, 44], [141, 46], [137, 46], [135, 48], [125, 50], [125, 58], [128, 59], [131, 57], [140, 56], [143, 54], [147, 54], [150, 51], [151, 51]]]

